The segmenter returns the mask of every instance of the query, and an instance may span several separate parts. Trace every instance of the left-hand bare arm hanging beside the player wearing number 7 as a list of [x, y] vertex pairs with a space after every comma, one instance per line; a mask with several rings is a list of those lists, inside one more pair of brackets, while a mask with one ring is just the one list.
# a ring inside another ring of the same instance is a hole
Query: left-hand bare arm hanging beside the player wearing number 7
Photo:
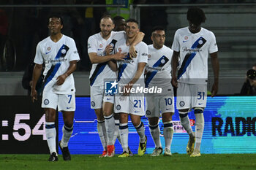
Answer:
[[32, 87], [31, 87], [31, 99], [34, 102], [34, 100], [37, 100], [37, 81], [42, 73], [42, 64], [36, 63], [34, 65], [33, 69], [33, 77], [32, 77]]

